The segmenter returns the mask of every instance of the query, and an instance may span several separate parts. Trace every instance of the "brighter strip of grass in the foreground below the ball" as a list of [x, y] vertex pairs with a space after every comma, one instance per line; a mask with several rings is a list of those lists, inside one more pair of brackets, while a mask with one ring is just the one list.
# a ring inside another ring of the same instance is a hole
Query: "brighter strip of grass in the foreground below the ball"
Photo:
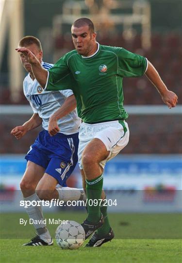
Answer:
[[3, 263], [181, 263], [180, 240], [113, 240], [101, 247], [62, 250], [21, 246], [26, 240], [1, 240]]

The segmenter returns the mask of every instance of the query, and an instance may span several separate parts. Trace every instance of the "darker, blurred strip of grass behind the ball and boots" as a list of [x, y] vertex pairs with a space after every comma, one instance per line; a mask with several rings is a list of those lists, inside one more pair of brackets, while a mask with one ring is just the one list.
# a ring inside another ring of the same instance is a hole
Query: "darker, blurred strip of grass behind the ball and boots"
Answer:
[[[28, 220], [26, 213], [1, 214], [1, 239], [33, 238], [33, 225], [20, 225], [19, 219]], [[86, 212], [64, 212], [45, 214], [49, 219], [74, 220], [83, 222]], [[109, 213], [109, 219], [114, 229], [116, 239], [182, 239], [181, 214], [122, 214]], [[47, 224], [52, 237], [58, 225]]]

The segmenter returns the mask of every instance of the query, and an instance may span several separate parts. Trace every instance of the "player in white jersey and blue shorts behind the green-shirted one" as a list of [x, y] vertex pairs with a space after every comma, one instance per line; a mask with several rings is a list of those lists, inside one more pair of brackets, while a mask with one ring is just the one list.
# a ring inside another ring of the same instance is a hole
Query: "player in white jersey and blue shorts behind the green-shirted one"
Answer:
[[[48, 70], [53, 66], [42, 61], [42, 47], [39, 39], [33, 36], [24, 37], [19, 41], [18, 47], [29, 48], [44, 69]], [[28, 72], [23, 81], [23, 91], [33, 109], [33, 116], [22, 126], [15, 127], [11, 134], [20, 139], [41, 124], [44, 129], [38, 134], [25, 156], [27, 168], [20, 182], [24, 200], [39, 201], [53, 198], [65, 202], [83, 200], [85, 198], [83, 189], [66, 187], [66, 179], [78, 161], [78, 131], [81, 119], [75, 109], [75, 97], [71, 90], [44, 91], [34, 78], [32, 67], [22, 53], [20, 60]], [[61, 187], [56, 188], [57, 184]], [[33, 221], [43, 221], [40, 206], [30, 206], [25, 209]], [[34, 227], [37, 236], [24, 245], [53, 244], [45, 224], [34, 224]]]

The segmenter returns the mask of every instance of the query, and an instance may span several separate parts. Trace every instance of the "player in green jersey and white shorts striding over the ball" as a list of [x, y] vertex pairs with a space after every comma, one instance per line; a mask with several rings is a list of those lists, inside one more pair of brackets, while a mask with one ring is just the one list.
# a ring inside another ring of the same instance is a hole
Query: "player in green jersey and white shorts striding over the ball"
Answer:
[[125, 121], [128, 114], [123, 108], [123, 77], [147, 75], [169, 108], [176, 106], [178, 97], [166, 88], [147, 58], [120, 47], [99, 45], [90, 19], [76, 20], [71, 34], [75, 50], [62, 56], [48, 72], [27, 48], [17, 51], [27, 56], [43, 88], [49, 91], [66, 89], [70, 86], [68, 82], [74, 87], [78, 115], [83, 120], [78, 155], [88, 200], [88, 216], [82, 225], [86, 238], [98, 229], [87, 245], [100, 246], [114, 237], [107, 207], [97, 203], [105, 198], [102, 191], [104, 166], [129, 141]]

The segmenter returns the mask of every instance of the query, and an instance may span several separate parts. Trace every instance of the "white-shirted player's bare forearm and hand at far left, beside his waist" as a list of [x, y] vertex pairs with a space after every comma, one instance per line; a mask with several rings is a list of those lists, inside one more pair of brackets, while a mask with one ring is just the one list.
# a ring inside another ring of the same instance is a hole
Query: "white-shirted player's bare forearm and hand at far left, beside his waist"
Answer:
[[33, 130], [42, 124], [42, 119], [39, 117], [38, 113], [33, 113], [30, 120], [25, 122], [22, 126], [15, 127], [11, 134], [16, 137], [17, 140], [21, 139], [27, 131]]

